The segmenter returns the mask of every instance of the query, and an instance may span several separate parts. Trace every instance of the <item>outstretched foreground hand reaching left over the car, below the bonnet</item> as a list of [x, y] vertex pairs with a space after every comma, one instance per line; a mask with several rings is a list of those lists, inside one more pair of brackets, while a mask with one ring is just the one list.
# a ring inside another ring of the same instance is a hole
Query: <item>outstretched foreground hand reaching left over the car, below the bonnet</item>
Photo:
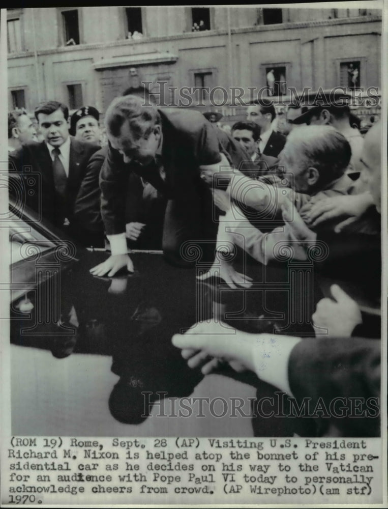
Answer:
[[[241, 338], [241, 335], [244, 338]], [[255, 338], [237, 332], [223, 322], [198, 322], [185, 334], [175, 334], [172, 344], [182, 349], [182, 357], [191, 368], [201, 367], [204, 375], [217, 370], [227, 361], [235, 371], [253, 370], [252, 345]]]

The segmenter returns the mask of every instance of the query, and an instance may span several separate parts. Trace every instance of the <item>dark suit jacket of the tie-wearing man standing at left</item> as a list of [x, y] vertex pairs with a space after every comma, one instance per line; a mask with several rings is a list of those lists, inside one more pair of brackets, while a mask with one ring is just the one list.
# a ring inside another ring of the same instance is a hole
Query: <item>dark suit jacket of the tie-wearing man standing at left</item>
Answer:
[[[99, 148], [97, 145], [70, 138], [69, 175], [65, 204], [66, 217], [70, 223], [73, 220], [74, 204], [85, 175], [87, 162]], [[45, 142], [31, 142], [12, 152], [10, 154], [10, 171], [17, 174], [19, 178], [24, 203], [55, 226], [62, 227], [63, 218], [59, 214], [55, 198], [52, 159]], [[13, 178], [15, 176], [13, 175]], [[15, 194], [15, 189], [12, 186], [10, 192]]]

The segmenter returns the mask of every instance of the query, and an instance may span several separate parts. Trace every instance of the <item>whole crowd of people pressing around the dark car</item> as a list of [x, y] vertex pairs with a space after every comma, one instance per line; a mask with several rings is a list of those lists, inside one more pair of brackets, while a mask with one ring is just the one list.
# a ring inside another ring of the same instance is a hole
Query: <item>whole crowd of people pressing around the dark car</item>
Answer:
[[[380, 390], [381, 124], [363, 137], [343, 94], [305, 100], [288, 107], [283, 134], [265, 100], [229, 134], [215, 117], [158, 107], [146, 91], [127, 90], [105, 112], [103, 145], [93, 106], [69, 118], [60, 102], [40, 104], [39, 133], [25, 111], [13, 111], [10, 182], [27, 188], [23, 167], [32, 167], [41, 187], [25, 193], [25, 204], [85, 247], [110, 249], [95, 276], [133, 271], [130, 248], [162, 249], [179, 267], [200, 264], [199, 284], [214, 292], [213, 320], [172, 338], [190, 367], [208, 374], [227, 362], [297, 401], [361, 398], [365, 410]], [[198, 247], [194, 261], [190, 245]], [[324, 256], [312, 257], [317, 249]], [[319, 291], [300, 287], [285, 298], [275, 290], [278, 312], [295, 299], [301, 315], [282, 334], [284, 324], [265, 316], [269, 279], [257, 286], [258, 274], [307, 261]], [[228, 322], [225, 285], [254, 295], [247, 326]], [[331, 415], [319, 430], [373, 436], [379, 423], [365, 412]]]

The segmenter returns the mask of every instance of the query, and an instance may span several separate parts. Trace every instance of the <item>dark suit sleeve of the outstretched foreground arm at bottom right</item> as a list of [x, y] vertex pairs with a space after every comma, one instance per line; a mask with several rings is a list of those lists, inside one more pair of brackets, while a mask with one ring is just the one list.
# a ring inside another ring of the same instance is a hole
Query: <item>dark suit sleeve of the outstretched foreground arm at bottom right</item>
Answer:
[[[380, 340], [359, 337], [302, 340], [288, 364], [295, 399], [301, 404], [309, 398], [312, 409], [323, 401], [327, 419], [343, 436], [378, 435], [380, 348]], [[344, 400], [334, 403], [336, 398]], [[348, 415], [340, 417], [341, 408]]]

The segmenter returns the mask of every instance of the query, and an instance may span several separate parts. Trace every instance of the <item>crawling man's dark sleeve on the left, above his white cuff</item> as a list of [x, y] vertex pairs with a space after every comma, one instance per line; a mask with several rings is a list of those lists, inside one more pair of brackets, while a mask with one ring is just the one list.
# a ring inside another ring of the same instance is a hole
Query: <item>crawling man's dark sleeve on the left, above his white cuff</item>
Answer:
[[101, 215], [107, 235], [125, 232], [128, 171], [123, 157], [109, 145], [99, 180]]

